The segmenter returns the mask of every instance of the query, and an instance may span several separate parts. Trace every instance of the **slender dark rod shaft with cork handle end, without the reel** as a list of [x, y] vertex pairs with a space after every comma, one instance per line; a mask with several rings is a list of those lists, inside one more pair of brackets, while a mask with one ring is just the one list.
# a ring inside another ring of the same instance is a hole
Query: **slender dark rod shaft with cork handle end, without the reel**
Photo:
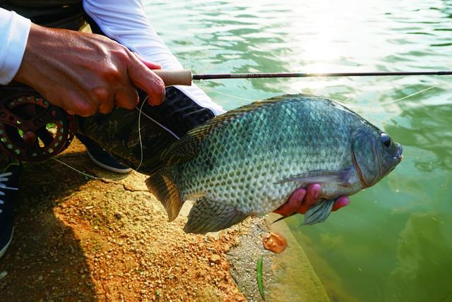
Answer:
[[315, 78], [348, 76], [388, 76], [388, 75], [452, 75], [452, 71], [403, 71], [369, 73], [214, 73], [192, 74], [191, 69], [161, 70], [154, 72], [162, 78], [166, 86], [191, 85], [193, 80], [215, 80], [228, 78]]

